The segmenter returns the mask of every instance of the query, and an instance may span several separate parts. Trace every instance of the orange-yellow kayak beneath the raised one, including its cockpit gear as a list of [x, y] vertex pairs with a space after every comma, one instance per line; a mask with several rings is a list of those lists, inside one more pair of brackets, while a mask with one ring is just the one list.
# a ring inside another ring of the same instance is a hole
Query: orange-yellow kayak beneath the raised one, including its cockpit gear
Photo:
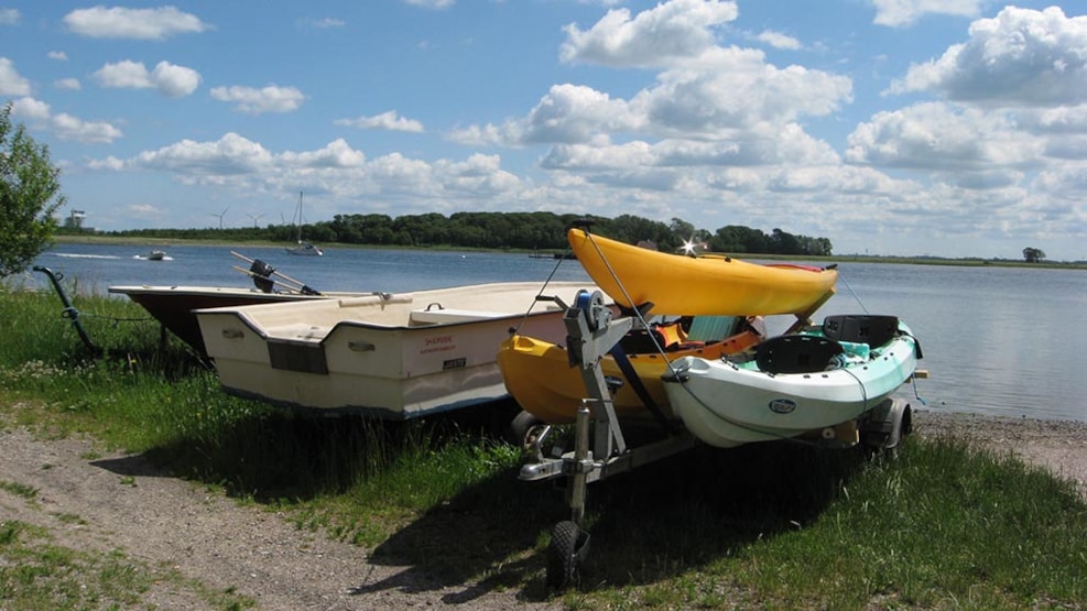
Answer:
[[[735, 316], [676, 320], [659, 325], [649, 332], [629, 334], [620, 345], [653, 404], [671, 418], [661, 382], [661, 377], [668, 371], [668, 362], [684, 356], [718, 359], [746, 350], [762, 339], [758, 324], [752, 323], [758, 321]], [[655, 345], [648, 337], [650, 332], [656, 336]], [[624, 380], [615, 357], [605, 357], [600, 364], [606, 377]], [[546, 424], [574, 422], [586, 389], [580, 372], [570, 368], [565, 348], [544, 339], [514, 335], [502, 342], [498, 365], [506, 389], [522, 410]], [[624, 381], [611, 399], [620, 417], [650, 416], [630, 381]]]

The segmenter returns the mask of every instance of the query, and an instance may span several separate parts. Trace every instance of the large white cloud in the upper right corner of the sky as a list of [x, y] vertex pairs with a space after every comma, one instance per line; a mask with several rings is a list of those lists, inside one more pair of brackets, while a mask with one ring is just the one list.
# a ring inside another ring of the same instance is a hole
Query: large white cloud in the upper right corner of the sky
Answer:
[[910, 67], [891, 92], [931, 90], [952, 100], [1001, 106], [1087, 102], [1087, 17], [1008, 7], [970, 25], [969, 40]]

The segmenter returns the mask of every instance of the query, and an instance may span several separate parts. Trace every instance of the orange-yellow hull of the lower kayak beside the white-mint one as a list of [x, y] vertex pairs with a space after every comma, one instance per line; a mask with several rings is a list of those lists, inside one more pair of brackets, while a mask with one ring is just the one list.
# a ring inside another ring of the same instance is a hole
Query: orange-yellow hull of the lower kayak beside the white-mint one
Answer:
[[[710, 342], [687, 341], [683, 337], [676, 338], [666, 329], [662, 330], [664, 342], [678, 339], [667, 346], [668, 351], [664, 354], [656, 351], [628, 353], [628, 358], [653, 402], [670, 418], [673, 414], [661, 377], [667, 372], [671, 360], [681, 357], [716, 360], [725, 354], [746, 350], [763, 339], [750, 325], [733, 327], [731, 335]], [[514, 335], [502, 342], [497, 360], [506, 390], [522, 410], [547, 424], [574, 422], [587, 391], [580, 371], [570, 367], [565, 348], [543, 339]], [[622, 378], [622, 372], [611, 356], [601, 359], [600, 367], [605, 375]], [[629, 382], [624, 382], [612, 394], [612, 401], [616, 414], [620, 417], [651, 417]]]

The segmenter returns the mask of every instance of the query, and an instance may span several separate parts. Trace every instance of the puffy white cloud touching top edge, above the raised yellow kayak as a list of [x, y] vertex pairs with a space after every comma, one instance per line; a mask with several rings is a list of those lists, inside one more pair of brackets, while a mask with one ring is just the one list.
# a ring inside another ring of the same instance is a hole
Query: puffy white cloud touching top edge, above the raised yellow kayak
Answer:
[[628, 9], [612, 9], [593, 28], [565, 28], [564, 62], [609, 66], [662, 66], [695, 57], [715, 45], [711, 29], [736, 20], [736, 2], [670, 0], [633, 19]]

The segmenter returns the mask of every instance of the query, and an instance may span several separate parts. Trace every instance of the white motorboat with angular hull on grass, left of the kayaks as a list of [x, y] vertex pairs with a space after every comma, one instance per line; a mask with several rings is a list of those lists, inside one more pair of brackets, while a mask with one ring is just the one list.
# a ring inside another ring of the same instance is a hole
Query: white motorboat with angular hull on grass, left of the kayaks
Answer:
[[496, 283], [195, 314], [227, 392], [403, 419], [508, 396], [496, 358], [511, 330], [566, 337], [565, 310], [536, 296], [594, 288]]

